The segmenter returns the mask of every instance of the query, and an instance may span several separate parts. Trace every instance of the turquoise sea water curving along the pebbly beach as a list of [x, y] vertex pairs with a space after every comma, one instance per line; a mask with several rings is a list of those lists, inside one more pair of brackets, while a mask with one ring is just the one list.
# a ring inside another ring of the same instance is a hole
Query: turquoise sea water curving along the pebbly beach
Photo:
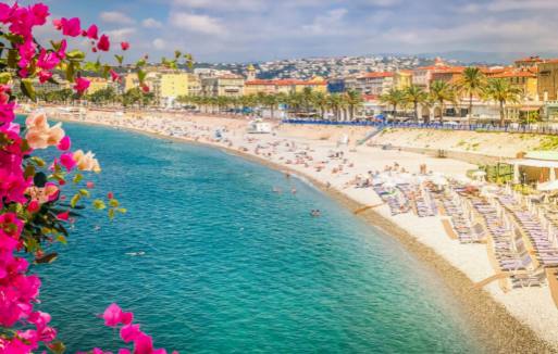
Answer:
[[435, 275], [311, 186], [213, 149], [64, 126], [128, 208], [88, 214], [37, 268], [70, 351], [114, 350], [96, 317], [111, 302], [183, 353], [480, 351]]

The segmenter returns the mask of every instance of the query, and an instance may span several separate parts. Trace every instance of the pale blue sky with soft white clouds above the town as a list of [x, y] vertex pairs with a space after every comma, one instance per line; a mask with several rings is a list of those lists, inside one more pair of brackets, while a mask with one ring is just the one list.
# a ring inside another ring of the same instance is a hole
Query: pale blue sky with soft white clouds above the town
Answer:
[[79, 16], [129, 41], [133, 58], [175, 49], [210, 62], [558, 49], [558, 0], [42, 1], [54, 17]]

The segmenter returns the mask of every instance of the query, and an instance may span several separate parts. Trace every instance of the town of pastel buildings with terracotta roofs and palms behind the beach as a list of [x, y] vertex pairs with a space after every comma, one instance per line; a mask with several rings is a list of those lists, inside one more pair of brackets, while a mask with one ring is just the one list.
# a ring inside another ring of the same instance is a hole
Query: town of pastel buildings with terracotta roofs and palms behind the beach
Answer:
[[[437, 117], [457, 123], [464, 119], [535, 123], [558, 118], [558, 60], [554, 59], [533, 55], [518, 59], [509, 65], [475, 66], [487, 81], [504, 83], [514, 92], [504, 100], [495, 96], [488, 97], [479, 90], [459, 90], [468, 66], [439, 58], [432, 61], [395, 56], [297, 60], [290, 62], [293, 72], [285, 69], [288, 64], [288, 61], [249, 64], [243, 66], [240, 72], [238, 67], [223, 68], [224, 65], [219, 66], [221, 68], [194, 69], [150, 65], [145, 69], [144, 92], [136, 92], [134, 97], [139, 79], [136, 72], [128, 69], [116, 81], [103, 77], [87, 77], [90, 86], [85, 102], [82, 100], [82, 103], [100, 103], [103, 101], [103, 93], [108, 93], [104, 96], [109, 100], [112, 98], [113, 103], [116, 103], [114, 101], [119, 94], [123, 96], [124, 101], [121, 100], [120, 103], [124, 105], [198, 110], [203, 105], [206, 109], [211, 105], [213, 113], [215, 110], [231, 112], [249, 108], [245, 112], [281, 118], [289, 115], [293, 117], [293, 113], [296, 116], [337, 121], [371, 119], [379, 115], [399, 121], [414, 117], [416, 121], [425, 123]], [[274, 78], [265, 78], [274, 76], [270, 73], [277, 73], [280, 67], [281, 71]], [[324, 76], [313, 75], [318, 73]], [[60, 77], [57, 80], [59, 85], [47, 84], [39, 87], [36, 83], [38, 98], [60, 101], [63, 94], [58, 97], [57, 92], [67, 93], [71, 84]], [[398, 92], [405, 96], [404, 91], [409, 88], [416, 90], [416, 99], [397, 101], [394, 98]], [[339, 103], [340, 106], [350, 105], [350, 115], [337, 114], [335, 106], [326, 109], [325, 103], [315, 102], [312, 102], [312, 109], [307, 108], [301, 112], [303, 110], [293, 106], [305, 106], [308, 103], [289, 104], [293, 100], [288, 101], [286, 98], [303, 91], [324, 96], [351, 93], [359, 98], [352, 103]], [[251, 97], [262, 99], [263, 96], [280, 98], [268, 100], [269, 104], [262, 100], [250, 100]], [[126, 97], [129, 98], [127, 102]]]

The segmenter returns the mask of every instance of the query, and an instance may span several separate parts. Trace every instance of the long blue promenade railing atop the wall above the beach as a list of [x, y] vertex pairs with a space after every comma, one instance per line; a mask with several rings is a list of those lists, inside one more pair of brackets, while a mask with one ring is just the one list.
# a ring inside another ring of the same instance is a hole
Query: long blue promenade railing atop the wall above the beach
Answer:
[[496, 126], [491, 124], [441, 124], [441, 123], [383, 123], [383, 122], [338, 122], [322, 119], [283, 119], [286, 124], [307, 124], [307, 125], [335, 125], [335, 126], [365, 126], [386, 128], [411, 128], [411, 129], [438, 129], [438, 130], [469, 130], [469, 131], [494, 131], [494, 132], [514, 132], [514, 134], [541, 134], [558, 136], [558, 128], [549, 126]]

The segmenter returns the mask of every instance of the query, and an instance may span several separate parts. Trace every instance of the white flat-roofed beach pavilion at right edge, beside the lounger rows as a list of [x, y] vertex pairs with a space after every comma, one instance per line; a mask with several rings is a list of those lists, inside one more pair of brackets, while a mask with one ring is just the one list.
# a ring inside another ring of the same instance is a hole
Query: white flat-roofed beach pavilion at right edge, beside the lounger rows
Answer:
[[513, 184], [529, 181], [550, 182], [556, 180], [558, 152], [532, 151], [509, 161], [509, 163], [513, 165]]

